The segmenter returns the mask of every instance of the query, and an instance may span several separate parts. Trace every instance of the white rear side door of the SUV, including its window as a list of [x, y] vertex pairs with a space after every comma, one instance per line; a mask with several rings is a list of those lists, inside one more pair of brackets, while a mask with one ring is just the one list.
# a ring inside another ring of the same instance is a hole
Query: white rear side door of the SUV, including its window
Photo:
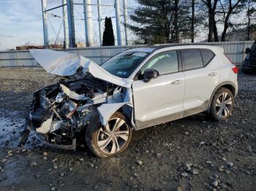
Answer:
[[180, 50], [185, 76], [184, 117], [206, 111], [220, 77], [219, 60], [211, 50]]

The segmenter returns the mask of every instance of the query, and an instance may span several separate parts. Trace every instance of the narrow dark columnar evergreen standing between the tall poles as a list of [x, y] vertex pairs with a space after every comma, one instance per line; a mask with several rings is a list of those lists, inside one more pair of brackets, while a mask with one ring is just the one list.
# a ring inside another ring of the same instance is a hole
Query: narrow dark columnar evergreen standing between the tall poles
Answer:
[[115, 46], [115, 36], [110, 17], [105, 17], [105, 30], [103, 33], [102, 46]]

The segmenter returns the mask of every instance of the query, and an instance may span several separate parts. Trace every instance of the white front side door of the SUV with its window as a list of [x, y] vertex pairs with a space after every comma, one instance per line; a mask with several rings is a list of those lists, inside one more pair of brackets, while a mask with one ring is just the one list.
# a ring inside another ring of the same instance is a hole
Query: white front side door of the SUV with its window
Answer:
[[[143, 80], [143, 71], [156, 69], [159, 76], [149, 82]], [[184, 73], [179, 71], [175, 50], [152, 57], [132, 83], [135, 124], [138, 129], [176, 120], [183, 116]]]

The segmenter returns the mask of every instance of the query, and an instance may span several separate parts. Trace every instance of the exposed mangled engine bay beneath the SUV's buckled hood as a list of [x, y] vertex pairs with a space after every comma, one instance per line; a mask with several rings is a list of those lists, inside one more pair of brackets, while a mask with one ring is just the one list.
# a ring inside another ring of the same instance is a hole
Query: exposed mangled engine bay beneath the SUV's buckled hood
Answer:
[[83, 139], [91, 117], [97, 115], [97, 106], [122, 101], [123, 90], [94, 77], [45, 87], [34, 93], [29, 130], [40, 133], [48, 144], [75, 144], [73, 140]]

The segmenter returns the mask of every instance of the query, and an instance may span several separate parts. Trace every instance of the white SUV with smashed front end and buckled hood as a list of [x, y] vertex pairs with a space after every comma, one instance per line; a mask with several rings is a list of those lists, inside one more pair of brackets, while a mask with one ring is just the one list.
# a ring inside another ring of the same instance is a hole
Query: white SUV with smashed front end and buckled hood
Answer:
[[20, 144], [35, 130], [50, 146], [86, 142], [98, 157], [109, 157], [127, 149], [132, 130], [206, 111], [226, 120], [238, 92], [238, 68], [220, 47], [135, 48], [102, 66], [66, 52], [31, 55], [60, 82], [34, 93]]

